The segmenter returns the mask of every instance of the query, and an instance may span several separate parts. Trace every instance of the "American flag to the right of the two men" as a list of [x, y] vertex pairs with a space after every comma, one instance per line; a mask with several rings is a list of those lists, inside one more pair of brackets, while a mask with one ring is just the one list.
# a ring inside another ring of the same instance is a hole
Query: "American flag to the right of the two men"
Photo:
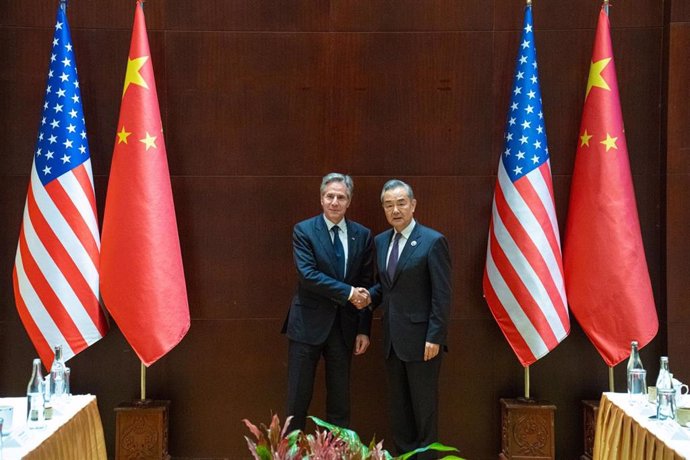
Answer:
[[532, 7], [525, 8], [489, 226], [484, 296], [523, 366], [570, 332]]

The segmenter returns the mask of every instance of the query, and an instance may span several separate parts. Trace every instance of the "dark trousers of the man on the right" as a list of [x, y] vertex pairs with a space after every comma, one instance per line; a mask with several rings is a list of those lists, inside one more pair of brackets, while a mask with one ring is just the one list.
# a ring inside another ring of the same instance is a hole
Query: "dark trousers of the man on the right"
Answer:
[[[391, 349], [386, 358], [389, 412], [398, 455], [438, 441], [440, 352], [430, 361], [401, 361]], [[434, 451], [417, 459], [437, 458]]]

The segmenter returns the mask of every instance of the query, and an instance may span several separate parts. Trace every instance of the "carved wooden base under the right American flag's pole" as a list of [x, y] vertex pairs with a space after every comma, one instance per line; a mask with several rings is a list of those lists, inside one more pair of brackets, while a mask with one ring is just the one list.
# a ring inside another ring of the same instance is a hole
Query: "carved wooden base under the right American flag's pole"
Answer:
[[501, 460], [556, 458], [554, 413], [545, 401], [501, 399]]

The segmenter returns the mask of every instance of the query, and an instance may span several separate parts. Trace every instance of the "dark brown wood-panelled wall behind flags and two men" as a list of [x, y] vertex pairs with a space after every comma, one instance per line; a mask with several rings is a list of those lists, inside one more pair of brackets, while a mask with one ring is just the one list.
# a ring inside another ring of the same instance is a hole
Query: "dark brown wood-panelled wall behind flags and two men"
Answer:
[[[69, 7], [101, 214], [133, 5], [73, 0]], [[658, 356], [668, 353], [686, 381], [688, 5], [631, 0], [611, 14], [662, 320], [642, 359], [653, 376]], [[11, 270], [54, 8], [36, 0], [0, 6], [0, 40], [14, 44], [0, 48], [0, 394], [23, 393], [35, 355], [14, 308]], [[598, 5], [537, 1], [534, 9], [563, 232]], [[495, 458], [498, 399], [523, 393], [523, 369], [486, 306], [481, 280], [523, 3], [164, 0], [147, 2], [145, 11], [192, 316], [189, 335], [147, 373], [148, 395], [172, 400], [173, 457], [248, 458], [241, 419], [284, 416], [287, 345], [279, 329], [295, 283], [291, 230], [319, 212], [320, 177], [335, 170], [354, 175], [348, 215], [374, 232], [387, 227], [381, 186], [399, 177], [415, 188], [420, 222], [448, 237], [455, 295], [441, 440], [464, 457]], [[378, 315], [371, 350], [354, 362], [353, 427], [390, 446]], [[606, 366], [572, 322], [570, 336], [531, 366], [531, 396], [558, 407], [557, 458], [582, 453], [580, 400], [608, 388]], [[113, 408], [139, 396], [139, 362], [113, 324], [70, 366], [75, 391], [98, 395], [112, 455]], [[320, 372], [317, 416], [325, 400]], [[614, 373], [622, 390], [623, 366]]]

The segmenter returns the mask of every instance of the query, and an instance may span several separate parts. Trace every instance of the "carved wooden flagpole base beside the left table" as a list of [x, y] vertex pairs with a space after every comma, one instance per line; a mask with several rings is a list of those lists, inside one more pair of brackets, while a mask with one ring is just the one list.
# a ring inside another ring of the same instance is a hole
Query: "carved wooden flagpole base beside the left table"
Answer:
[[116, 460], [168, 460], [170, 401], [133, 401], [115, 408]]

